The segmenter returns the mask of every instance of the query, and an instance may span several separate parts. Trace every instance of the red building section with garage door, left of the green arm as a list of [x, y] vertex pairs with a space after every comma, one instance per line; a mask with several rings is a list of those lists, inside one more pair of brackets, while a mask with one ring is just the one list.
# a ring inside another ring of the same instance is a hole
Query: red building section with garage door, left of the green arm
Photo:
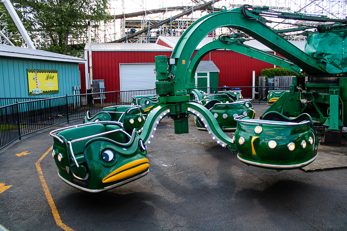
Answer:
[[[88, 45], [86, 45], [86, 57], [88, 57], [89, 53], [88, 48]], [[106, 92], [126, 91], [122, 89], [121, 86], [120, 74], [122, 72], [122, 67], [129, 66], [126, 64], [135, 64], [130, 66], [130, 70], [126, 70], [126, 77], [130, 80], [134, 80], [133, 82], [138, 85], [137, 88], [134, 86], [134, 90], [139, 90], [139, 88], [141, 88], [141, 80], [144, 81], [144, 78], [146, 78], [145, 73], [142, 71], [142, 66], [144, 65], [141, 64], [152, 64], [145, 65], [145, 68], [151, 68], [151, 66], [154, 66], [155, 56], [167, 55], [170, 57], [172, 51], [172, 48], [157, 44], [92, 44], [93, 79], [103, 79]], [[80, 66], [80, 69], [83, 69], [83, 67]], [[154, 67], [151, 71], [153, 71], [152, 74], [155, 78]], [[88, 80], [81, 79], [82, 93], [86, 92], [86, 83], [88, 85]], [[145, 87], [146, 84], [142, 83], [142, 86]], [[147, 89], [143, 88], [143, 90]]]

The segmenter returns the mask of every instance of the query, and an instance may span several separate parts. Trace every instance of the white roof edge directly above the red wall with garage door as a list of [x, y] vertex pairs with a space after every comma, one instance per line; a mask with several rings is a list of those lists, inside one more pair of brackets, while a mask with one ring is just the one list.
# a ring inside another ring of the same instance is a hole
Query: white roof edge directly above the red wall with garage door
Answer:
[[[84, 47], [85, 50], [89, 49], [89, 44]], [[158, 44], [125, 44], [125, 43], [105, 43], [105, 44], [92, 44], [93, 51], [173, 51], [172, 48], [161, 46]]]

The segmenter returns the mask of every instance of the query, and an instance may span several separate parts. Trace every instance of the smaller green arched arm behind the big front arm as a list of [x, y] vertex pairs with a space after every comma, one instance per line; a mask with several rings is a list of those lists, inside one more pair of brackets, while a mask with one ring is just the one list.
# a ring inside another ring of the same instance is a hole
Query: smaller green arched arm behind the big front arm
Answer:
[[286, 68], [295, 73], [300, 73], [301, 68], [290, 62], [289, 60], [282, 58], [280, 56], [271, 54], [269, 52], [254, 48], [252, 46], [247, 46], [242, 43], [222, 43], [220, 40], [215, 40], [203, 47], [201, 47], [193, 56], [192, 60], [188, 66], [188, 77], [186, 79], [189, 84], [194, 81], [195, 71], [198, 67], [200, 61], [209, 52], [216, 49], [229, 49], [237, 53], [247, 55], [252, 58], [259, 59], [264, 62], [268, 62], [283, 68]]

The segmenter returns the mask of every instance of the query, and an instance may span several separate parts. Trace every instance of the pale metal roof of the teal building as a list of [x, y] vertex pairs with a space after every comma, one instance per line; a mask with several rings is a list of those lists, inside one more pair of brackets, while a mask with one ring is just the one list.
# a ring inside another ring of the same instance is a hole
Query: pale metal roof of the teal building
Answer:
[[45, 50], [29, 49], [18, 46], [0, 45], [0, 56], [43, 59], [61, 62], [84, 63], [84, 59], [72, 57], [64, 54], [53, 53]]

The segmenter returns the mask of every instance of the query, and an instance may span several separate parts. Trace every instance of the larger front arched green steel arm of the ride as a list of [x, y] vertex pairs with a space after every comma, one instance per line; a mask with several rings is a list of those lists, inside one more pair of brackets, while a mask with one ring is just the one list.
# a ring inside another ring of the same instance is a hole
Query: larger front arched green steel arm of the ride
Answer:
[[[249, 13], [250, 14], [250, 13]], [[247, 17], [250, 16], [247, 14]], [[256, 17], [253, 15], [253, 17]], [[296, 46], [289, 43], [271, 28], [266, 26], [265, 18], [247, 19], [241, 12], [241, 8], [227, 11], [222, 7], [222, 12], [212, 13], [200, 18], [191, 25], [179, 39], [175, 46], [172, 58], [176, 58], [174, 65], [169, 65], [169, 71], [175, 76], [172, 95], [184, 94], [184, 89], [195, 88], [194, 81], [184, 81], [188, 78], [188, 64], [195, 47], [211, 31], [219, 27], [230, 27], [250, 35], [265, 46], [280, 53], [294, 64], [299, 65], [306, 73], [326, 74], [325, 64], [305, 54]], [[184, 78], [184, 79], [183, 79]], [[187, 83], [187, 84], [186, 84]], [[186, 87], [187, 86], [187, 87]]]

